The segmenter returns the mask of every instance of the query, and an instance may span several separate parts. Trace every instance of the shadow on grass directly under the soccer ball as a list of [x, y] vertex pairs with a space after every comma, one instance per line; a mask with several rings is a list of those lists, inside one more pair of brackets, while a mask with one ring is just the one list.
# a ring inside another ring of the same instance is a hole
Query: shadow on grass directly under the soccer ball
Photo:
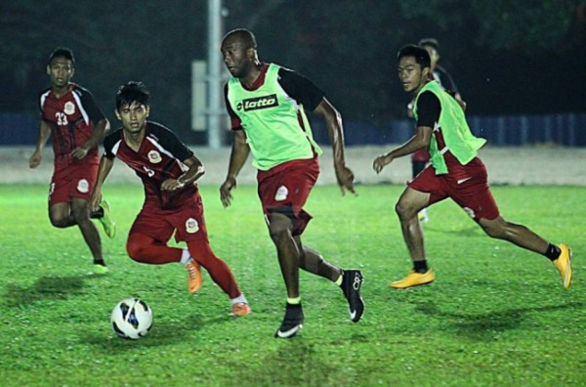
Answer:
[[[107, 354], [127, 352], [129, 349], [141, 349], [158, 347], [159, 345], [178, 344], [191, 340], [189, 335], [200, 331], [213, 329], [213, 325], [222, 322], [229, 322], [233, 318], [222, 316], [216, 318], [202, 318], [200, 315], [191, 315], [183, 320], [153, 320], [151, 331], [140, 340], [125, 340], [114, 334], [114, 331], [107, 332], [86, 332], [81, 336], [81, 342], [90, 344], [98, 350]], [[195, 342], [195, 341], [194, 341]]]

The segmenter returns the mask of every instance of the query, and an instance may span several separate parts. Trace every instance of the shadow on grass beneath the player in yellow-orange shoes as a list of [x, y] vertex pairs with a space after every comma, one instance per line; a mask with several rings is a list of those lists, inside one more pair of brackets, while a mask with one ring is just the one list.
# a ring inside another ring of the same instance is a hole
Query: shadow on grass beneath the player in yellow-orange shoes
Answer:
[[415, 311], [436, 317], [448, 318], [447, 326], [459, 335], [465, 335], [479, 341], [493, 340], [495, 333], [519, 328], [527, 321], [527, 313], [539, 312], [546, 314], [551, 311], [567, 308], [581, 308], [584, 303], [567, 303], [563, 305], [547, 305], [540, 307], [510, 308], [481, 314], [449, 313], [441, 311], [432, 301], [418, 303]]

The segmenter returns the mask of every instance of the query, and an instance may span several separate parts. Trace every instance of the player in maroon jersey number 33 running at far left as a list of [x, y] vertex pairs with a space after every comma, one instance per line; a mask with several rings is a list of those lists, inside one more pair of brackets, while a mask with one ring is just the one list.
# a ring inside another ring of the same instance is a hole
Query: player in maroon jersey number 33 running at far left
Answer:
[[29, 167], [39, 166], [43, 148], [53, 136], [55, 155], [49, 188], [49, 219], [57, 228], [78, 225], [94, 259], [93, 271], [108, 271], [102, 257], [100, 235], [91, 218], [102, 223], [106, 235], [114, 237], [115, 223], [110, 219], [108, 203], [102, 201], [90, 214], [88, 201], [98, 171], [98, 144], [110, 128], [89, 91], [71, 83], [73, 52], [57, 48], [49, 57], [47, 75], [51, 87], [40, 93], [40, 127], [35, 152]]

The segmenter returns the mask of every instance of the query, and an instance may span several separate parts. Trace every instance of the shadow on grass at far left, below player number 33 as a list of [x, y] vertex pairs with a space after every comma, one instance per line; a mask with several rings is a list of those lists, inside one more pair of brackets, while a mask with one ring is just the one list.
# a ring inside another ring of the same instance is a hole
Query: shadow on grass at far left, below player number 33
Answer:
[[8, 284], [4, 293], [4, 305], [21, 307], [41, 300], [67, 300], [83, 294], [84, 280], [88, 276], [40, 277], [32, 286]]

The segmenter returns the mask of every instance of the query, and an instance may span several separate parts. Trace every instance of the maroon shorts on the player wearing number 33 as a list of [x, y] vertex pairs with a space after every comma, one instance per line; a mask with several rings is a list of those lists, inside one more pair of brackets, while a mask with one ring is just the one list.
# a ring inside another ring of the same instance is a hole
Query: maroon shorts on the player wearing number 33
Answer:
[[70, 164], [53, 173], [49, 186], [49, 207], [71, 203], [71, 198], [89, 200], [98, 177], [98, 164]]

